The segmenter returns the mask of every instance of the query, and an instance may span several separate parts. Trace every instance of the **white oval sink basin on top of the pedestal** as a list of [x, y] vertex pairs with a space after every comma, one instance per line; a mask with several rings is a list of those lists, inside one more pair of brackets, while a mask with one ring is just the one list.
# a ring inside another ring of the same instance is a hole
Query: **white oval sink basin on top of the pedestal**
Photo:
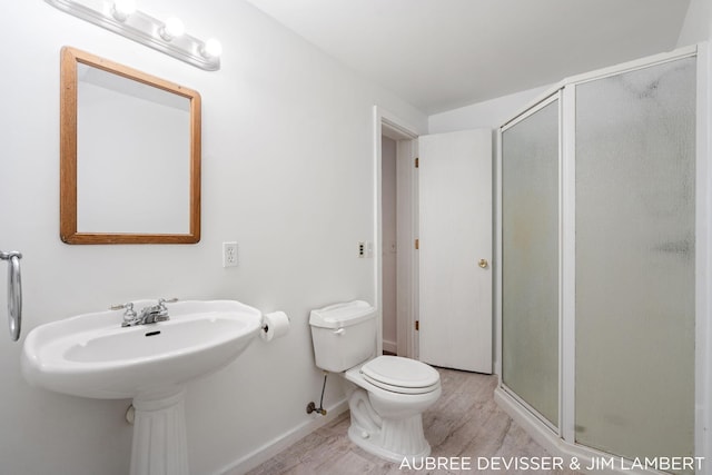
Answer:
[[[156, 305], [139, 300], [135, 308]], [[121, 327], [123, 310], [83, 314], [34, 328], [22, 352], [32, 385], [102, 399], [156, 397], [235, 359], [261, 314], [233, 300], [168, 304], [170, 319]]]

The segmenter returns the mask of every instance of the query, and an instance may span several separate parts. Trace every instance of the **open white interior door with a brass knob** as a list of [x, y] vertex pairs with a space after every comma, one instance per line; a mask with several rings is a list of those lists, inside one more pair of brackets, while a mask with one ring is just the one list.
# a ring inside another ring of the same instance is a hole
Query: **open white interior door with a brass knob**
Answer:
[[421, 360], [492, 373], [492, 130], [422, 136]]

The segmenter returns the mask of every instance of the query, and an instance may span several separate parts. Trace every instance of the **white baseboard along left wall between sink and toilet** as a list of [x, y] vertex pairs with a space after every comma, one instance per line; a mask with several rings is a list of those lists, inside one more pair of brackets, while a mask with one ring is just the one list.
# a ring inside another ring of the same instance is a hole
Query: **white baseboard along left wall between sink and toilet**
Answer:
[[330, 423], [346, 410], [348, 410], [348, 402], [346, 399], [342, 399], [327, 408], [326, 416], [319, 416], [312, 420], [304, 422], [291, 431], [274, 438], [243, 458], [239, 458], [224, 467], [217, 472], [216, 475], [240, 475], [247, 473], [289, 447], [295, 442], [300, 441], [319, 427]]

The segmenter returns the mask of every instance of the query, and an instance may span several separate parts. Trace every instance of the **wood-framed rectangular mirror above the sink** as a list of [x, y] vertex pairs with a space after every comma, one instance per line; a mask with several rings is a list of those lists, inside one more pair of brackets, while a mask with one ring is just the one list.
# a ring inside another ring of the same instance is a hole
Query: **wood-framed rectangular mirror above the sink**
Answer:
[[200, 240], [200, 95], [61, 50], [60, 237], [67, 244]]

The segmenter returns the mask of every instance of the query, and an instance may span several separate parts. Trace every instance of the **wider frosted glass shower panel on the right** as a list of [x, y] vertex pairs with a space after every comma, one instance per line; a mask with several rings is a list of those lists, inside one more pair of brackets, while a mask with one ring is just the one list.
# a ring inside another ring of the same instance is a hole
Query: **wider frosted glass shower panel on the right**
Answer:
[[576, 86], [576, 442], [694, 451], [695, 58]]

